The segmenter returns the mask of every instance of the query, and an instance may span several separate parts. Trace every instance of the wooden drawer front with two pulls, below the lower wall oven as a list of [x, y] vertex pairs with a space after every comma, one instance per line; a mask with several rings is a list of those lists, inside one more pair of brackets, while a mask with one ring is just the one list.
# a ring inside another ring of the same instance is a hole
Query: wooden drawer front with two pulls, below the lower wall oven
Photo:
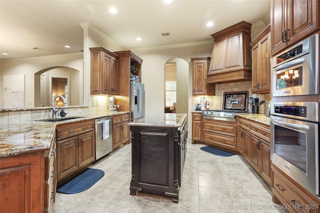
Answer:
[[273, 190], [275, 190], [280, 196], [290, 205], [296, 212], [310, 212], [310, 209], [306, 209], [311, 204], [306, 201], [302, 196], [297, 194], [280, 176], [275, 172], [273, 173]]

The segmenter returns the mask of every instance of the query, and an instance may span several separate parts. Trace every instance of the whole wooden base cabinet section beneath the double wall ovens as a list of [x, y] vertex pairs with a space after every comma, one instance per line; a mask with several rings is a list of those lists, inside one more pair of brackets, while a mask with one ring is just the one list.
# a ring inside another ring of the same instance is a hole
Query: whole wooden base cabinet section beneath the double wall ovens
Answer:
[[288, 212], [320, 212], [320, 201], [272, 164], [272, 201]]

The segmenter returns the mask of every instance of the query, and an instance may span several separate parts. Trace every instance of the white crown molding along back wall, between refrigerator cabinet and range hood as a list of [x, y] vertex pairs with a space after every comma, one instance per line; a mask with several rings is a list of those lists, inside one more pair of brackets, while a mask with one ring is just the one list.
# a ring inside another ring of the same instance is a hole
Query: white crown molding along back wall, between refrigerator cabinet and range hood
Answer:
[[158, 45], [158, 46], [146, 46], [146, 47], [130, 48], [130, 49], [132, 51], [149, 51], [149, 50], [201, 46], [201, 45], [208, 45], [208, 44], [213, 44], [213, 39], [212, 40], [195, 41], [195, 42], [187, 42], [187, 43], [174, 43], [174, 44], [166, 44], [166, 45]]

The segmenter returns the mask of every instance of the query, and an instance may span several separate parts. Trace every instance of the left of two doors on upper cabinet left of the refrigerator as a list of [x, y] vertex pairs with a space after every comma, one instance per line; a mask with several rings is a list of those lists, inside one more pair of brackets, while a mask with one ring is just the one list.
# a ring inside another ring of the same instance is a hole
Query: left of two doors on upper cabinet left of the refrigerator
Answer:
[[109, 94], [111, 91], [111, 76], [112, 76], [112, 58], [103, 52], [102, 59], [102, 93]]

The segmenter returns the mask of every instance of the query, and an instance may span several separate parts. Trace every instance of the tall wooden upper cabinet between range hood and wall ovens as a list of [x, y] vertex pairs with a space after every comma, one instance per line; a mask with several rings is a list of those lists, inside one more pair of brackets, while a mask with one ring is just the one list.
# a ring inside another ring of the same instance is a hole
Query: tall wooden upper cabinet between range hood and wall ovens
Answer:
[[270, 25], [251, 43], [252, 93], [270, 92]]

